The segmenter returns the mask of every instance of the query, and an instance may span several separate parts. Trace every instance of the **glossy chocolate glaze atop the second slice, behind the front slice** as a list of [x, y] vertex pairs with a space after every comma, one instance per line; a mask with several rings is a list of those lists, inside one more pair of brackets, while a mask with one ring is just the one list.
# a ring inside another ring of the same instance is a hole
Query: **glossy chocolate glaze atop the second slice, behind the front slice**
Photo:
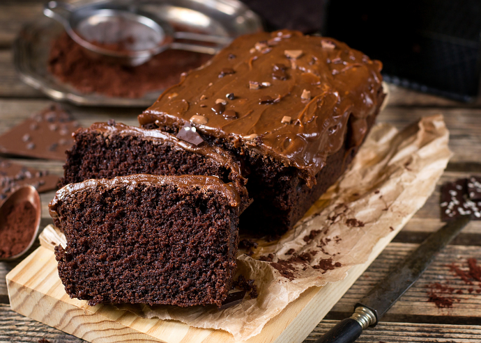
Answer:
[[217, 161], [222, 166], [231, 169], [234, 173], [241, 177], [243, 184], [247, 183], [242, 177], [241, 166], [236, 163], [226, 150], [223, 150], [220, 147], [215, 147], [208, 145], [206, 143], [202, 145], [194, 145], [192, 143], [183, 141], [176, 136], [169, 134], [167, 132], [162, 132], [160, 130], [148, 130], [142, 129], [141, 127], [133, 127], [129, 125], [122, 124], [120, 122], [116, 122], [113, 125], [107, 122], [96, 122], [88, 129], [82, 129], [88, 131], [98, 131], [105, 136], [109, 136], [111, 134], [120, 134], [120, 135], [134, 135], [140, 136], [144, 139], [149, 139], [151, 141], [167, 141], [174, 144], [174, 147], [177, 149], [183, 149], [188, 152], [193, 152], [195, 154], [204, 155], [210, 159]]

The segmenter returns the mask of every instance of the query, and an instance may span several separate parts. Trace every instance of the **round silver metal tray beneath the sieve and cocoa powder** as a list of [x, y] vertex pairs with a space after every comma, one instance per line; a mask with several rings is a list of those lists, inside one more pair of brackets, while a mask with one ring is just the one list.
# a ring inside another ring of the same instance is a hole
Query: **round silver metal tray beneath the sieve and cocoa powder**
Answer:
[[[91, 2], [77, 1], [75, 5]], [[142, 1], [140, 7], [171, 24], [190, 26], [213, 35], [235, 38], [262, 29], [259, 17], [237, 0], [150, 0]], [[13, 52], [15, 68], [22, 81], [54, 100], [81, 106], [146, 107], [162, 93], [158, 90], [137, 99], [107, 97], [97, 93], [84, 94], [61, 82], [47, 70], [51, 42], [61, 33], [63, 27], [47, 17], [39, 17], [20, 31]]]

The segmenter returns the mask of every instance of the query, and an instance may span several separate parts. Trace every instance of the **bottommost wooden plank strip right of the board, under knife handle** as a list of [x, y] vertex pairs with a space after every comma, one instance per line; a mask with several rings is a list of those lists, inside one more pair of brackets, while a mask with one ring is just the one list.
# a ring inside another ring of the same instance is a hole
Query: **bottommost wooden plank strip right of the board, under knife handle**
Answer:
[[[314, 343], [337, 321], [323, 320], [303, 343]], [[475, 343], [481, 340], [481, 326], [381, 323], [365, 330], [356, 342], [364, 343]]]

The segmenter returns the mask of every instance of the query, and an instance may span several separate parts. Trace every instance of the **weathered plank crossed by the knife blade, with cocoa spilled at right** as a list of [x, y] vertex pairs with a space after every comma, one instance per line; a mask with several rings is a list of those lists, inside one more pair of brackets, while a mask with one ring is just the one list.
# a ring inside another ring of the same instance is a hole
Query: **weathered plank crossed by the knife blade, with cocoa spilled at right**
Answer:
[[[356, 302], [417, 247], [418, 244], [391, 243], [337, 302], [328, 318], [342, 319], [350, 316]], [[468, 271], [468, 258], [477, 259], [481, 265], [481, 249], [478, 246], [446, 247], [413, 287], [385, 314], [383, 321], [405, 321], [411, 317], [431, 323], [481, 324], [481, 283], [471, 279], [473, 285], [468, 285], [450, 269], [455, 264], [462, 271]], [[435, 282], [454, 289], [454, 294], [441, 294], [452, 298], [452, 308], [438, 308], [428, 302], [429, 285]], [[462, 294], [456, 294], [459, 290]]]

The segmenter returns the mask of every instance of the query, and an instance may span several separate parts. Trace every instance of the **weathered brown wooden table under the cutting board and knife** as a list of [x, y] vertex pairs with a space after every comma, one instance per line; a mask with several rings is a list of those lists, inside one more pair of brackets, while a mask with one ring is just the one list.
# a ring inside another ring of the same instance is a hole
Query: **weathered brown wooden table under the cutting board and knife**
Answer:
[[[17, 125], [34, 111], [52, 103], [43, 94], [26, 86], [15, 74], [11, 45], [21, 26], [41, 13], [38, 0], [2, 0], [0, 3], [0, 134]], [[119, 122], [137, 125], [137, 114], [142, 109], [82, 108], [64, 105], [83, 127], [96, 121], [114, 118]], [[390, 85], [390, 102], [379, 122], [389, 122], [402, 128], [424, 115], [442, 113], [450, 129], [450, 148], [454, 152], [448, 168], [441, 177], [434, 194], [427, 203], [399, 232], [394, 241], [369, 266], [342, 299], [329, 312], [326, 319], [312, 331], [305, 342], [314, 342], [319, 335], [349, 316], [353, 305], [372, 285], [395, 267], [429, 232], [437, 230], [439, 219], [439, 186], [448, 180], [468, 175], [481, 175], [481, 106], [461, 104], [448, 99], [415, 93]], [[11, 159], [24, 166], [47, 169], [61, 175], [62, 163], [36, 159]], [[47, 204], [54, 192], [41, 195], [43, 203], [42, 226], [52, 223]], [[34, 246], [33, 248], [36, 248]], [[32, 248], [32, 250], [33, 250]], [[455, 263], [467, 269], [470, 257], [481, 262], [481, 221], [471, 222], [448, 248], [436, 257], [435, 262], [415, 285], [385, 315], [381, 324], [362, 334], [358, 342], [481, 342], [481, 292], [480, 282], [466, 285], [450, 269]], [[10, 310], [5, 276], [17, 262], [0, 262], [0, 343], [38, 342], [46, 338], [50, 342], [83, 342], [77, 337], [62, 333], [44, 324], [23, 317]], [[427, 285], [434, 282], [449, 284], [461, 289], [454, 294], [452, 308], [437, 308], [428, 301]], [[472, 289], [471, 289], [472, 288]], [[471, 290], [471, 293], [469, 292]]]

